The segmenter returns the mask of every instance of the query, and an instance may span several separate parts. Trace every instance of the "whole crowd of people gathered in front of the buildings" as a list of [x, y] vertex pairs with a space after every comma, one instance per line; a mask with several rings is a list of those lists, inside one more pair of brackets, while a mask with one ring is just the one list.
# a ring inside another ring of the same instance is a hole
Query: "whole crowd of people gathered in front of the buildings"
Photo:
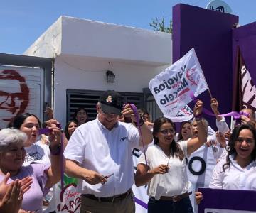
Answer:
[[[134, 182], [148, 185], [148, 212], [193, 212], [187, 159], [201, 148], [211, 148], [215, 158], [208, 187], [255, 190], [255, 112], [242, 109], [240, 123], [231, 131], [218, 101], [210, 104], [216, 132], [203, 119], [200, 100], [194, 119], [176, 133], [173, 121], [160, 117], [152, 122], [145, 109], [138, 110], [137, 120], [132, 106], [112, 90], [100, 96], [96, 119], [88, 121], [87, 111], [79, 108], [64, 130], [50, 109], [45, 131], [36, 115], [19, 114], [0, 131], [0, 212], [57, 211], [62, 168], [65, 177], [77, 180], [80, 212], [135, 212]], [[145, 150], [137, 165], [134, 148]], [[195, 192], [195, 199], [199, 204], [202, 193]]]

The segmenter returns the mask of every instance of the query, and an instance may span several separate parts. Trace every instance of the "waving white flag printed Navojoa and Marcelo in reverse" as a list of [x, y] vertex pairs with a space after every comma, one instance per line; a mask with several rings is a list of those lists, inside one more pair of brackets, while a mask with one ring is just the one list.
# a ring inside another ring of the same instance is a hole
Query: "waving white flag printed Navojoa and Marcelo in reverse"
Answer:
[[163, 114], [181, 121], [182, 116], [177, 115], [181, 108], [191, 102], [190, 93], [198, 96], [208, 89], [195, 50], [192, 48], [180, 60], [156, 75], [149, 82], [149, 89]]

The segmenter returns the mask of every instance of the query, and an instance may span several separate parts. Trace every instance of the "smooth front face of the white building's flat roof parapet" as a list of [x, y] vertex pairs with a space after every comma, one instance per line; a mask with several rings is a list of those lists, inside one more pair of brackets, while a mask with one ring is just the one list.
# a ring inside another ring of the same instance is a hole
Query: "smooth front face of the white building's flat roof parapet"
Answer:
[[[171, 62], [171, 34], [63, 16], [65, 55], [164, 65]], [[160, 54], [159, 54], [160, 53]]]

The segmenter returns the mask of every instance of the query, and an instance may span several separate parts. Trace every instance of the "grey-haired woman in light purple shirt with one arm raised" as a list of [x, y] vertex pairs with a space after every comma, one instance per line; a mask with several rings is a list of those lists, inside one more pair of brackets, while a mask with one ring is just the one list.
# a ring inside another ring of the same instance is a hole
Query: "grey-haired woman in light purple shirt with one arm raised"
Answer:
[[[48, 121], [50, 129], [50, 150], [53, 154], [51, 166], [36, 163], [23, 166], [26, 156], [23, 143], [27, 140], [26, 133], [17, 129], [2, 129], [0, 131], [0, 182], [6, 173], [10, 173], [8, 183], [27, 176], [33, 179], [31, 189], [23, 195], [21, 209], [25, 211], [42, 212], [43, 194], [60, 180], [60, 129], [57, 121]], [[20, 212], [24, 212], [21, 210]]]

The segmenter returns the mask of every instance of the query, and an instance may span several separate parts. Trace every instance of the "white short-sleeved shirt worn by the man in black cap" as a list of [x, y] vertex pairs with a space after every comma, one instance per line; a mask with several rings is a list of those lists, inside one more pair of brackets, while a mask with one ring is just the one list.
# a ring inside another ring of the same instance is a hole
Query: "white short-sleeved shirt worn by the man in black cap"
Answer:
[[112, 175], [104, 185], [90, 185], [78, 179], [82, 194], [112, 197], [129, 190], [134, 183], [132, 149], [139, 146], [139, 132], [132, 124], [118, 122], [108, 130], [98, 119], [78, 126], [65, 148], [65, 159], [101, 175]]

